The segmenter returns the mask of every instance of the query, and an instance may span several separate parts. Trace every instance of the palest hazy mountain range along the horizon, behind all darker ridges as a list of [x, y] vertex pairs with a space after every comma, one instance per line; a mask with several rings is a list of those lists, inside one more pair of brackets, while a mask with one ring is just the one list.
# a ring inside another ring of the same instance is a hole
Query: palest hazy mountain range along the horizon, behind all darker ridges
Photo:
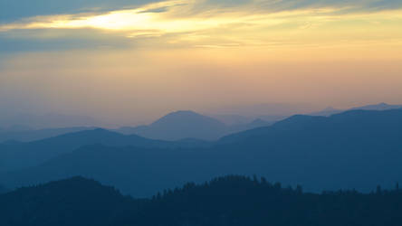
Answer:
[[[367, 109], [367, 110], [386, 110], [402, 108], [402, 105], [388, 105], [386, 103], [380, 103], [377, 105], [368, 105], [354, 109]], [[319, 112], [313, 112], [308, 115], [312, 116], [330, 116], [333, 114], [339, 114], [345, 112], [345, 109], [325, 108]], [[11, 127], [0, 128], [0, 142], [9, 140], [20, 142], [31, 142], [35, 140], [45, 139], [49, 137], [57, 137], [63, 134], [78, 132], [83, 130], [91, 130], [95, 127], [54, 127], [55, 125], [90, 125], [91, 119], [80, 117], [69, 117], [63, 115], [45, 115], [43, 117], [31, 118], [30, 122], [43, 121], [43, 125], [46, 118], [49, 119], [48, 125], [53, 127], [34, 129], [27, 127], [24, 124], [14, 124]], [[273, 125], [273, 123], [289, 118], [289, 115], [261, 115], [258, 117], [245, 117], [240, 115], [201, 115], [194, 111], [177, 111], [169, 113], [168, 115], [159, 118], [154, 123], [148, 126], [139, 127], [120, 127], [119, 129], [110, 129], [111, 131], [119, 132], [125, 135], [139, 135], [140, 137], [147, 137], [151, 139], [161, 140], [180, 140], [180, 139], [203, 139], [203, 140], [216, 140], [226, 135], [241, 132], [256, 127], [267, 127]], [[50, 122], [67, 122], [65, 124], [52, 124]], [[38, 122], [38, 123], [39, 123]], [[7, 122], [8, 124], [10, 122]], [[19, 123], [24, 123], [20, 121]], [[70, 123], [70, 124], [69, 124]], [[6, 125], [0, 121], [1, 125]], [[95, 123], [92, 123], [94, 125]], [[98, 123], [99, 124], [99, 123]], [[30, 125], [30, 124], [28, 124]], [[41, 126], [43, 127], [43, 126]]]

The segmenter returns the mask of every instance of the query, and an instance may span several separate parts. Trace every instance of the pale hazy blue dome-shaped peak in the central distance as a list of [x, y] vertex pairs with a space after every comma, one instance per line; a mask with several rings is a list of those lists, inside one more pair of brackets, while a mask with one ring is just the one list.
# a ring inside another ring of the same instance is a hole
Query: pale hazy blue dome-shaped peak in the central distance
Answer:
[[271, 124], [271, 122], [259, 119], [251, 123], [226, 125], [215, 118], [207, 117], [194, 111], [176, 111], [159, 118], [148, 126], [121, 127], [116, 131], [161, 140], [180, 140], [185, 138], [215, 140], [230, 133], [254, 127], [266, 127]]

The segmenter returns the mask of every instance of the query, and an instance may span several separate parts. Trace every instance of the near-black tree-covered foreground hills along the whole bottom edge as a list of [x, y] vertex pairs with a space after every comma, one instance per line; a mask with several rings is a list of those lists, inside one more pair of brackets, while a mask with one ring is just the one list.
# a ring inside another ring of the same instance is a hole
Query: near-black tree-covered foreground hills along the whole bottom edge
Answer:
[[303, 193], [265, 179], [219, 177], [132, 199], [81, 177], [0, 195], [2, 226], [397, 226], [402, 192]]

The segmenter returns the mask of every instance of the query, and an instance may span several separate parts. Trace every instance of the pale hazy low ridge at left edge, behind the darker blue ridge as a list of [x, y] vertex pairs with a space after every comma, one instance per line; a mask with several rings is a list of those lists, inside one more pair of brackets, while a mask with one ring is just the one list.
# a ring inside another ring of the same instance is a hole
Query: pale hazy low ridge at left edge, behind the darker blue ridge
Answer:
[[57, 137], [63, 134], [79, 132], [83, 130], [92, 130], [95, 127], [62, 127], [62, 128], [44, 128], [44, 129], [24, 129], [24, 130], [3, 130], [0, 131], [0, 142], [15, 140], [30, 142], [34, 140]]

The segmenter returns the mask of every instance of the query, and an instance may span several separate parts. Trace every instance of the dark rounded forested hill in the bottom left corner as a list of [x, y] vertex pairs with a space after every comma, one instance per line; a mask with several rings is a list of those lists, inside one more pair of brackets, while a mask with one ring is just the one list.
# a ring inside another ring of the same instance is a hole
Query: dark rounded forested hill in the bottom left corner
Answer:
[[0, 225], [113, 225], [131, 202], [112, 187], [74, 177], [0, 194]]

